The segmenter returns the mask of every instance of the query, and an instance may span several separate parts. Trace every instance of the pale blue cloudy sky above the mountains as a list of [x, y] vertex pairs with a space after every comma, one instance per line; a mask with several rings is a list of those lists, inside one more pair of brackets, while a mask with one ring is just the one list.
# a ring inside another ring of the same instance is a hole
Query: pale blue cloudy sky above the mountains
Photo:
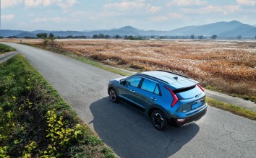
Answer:
[[1, 0], [1, 29], [172, 30], [238, 20], [256, 25], [256, 0]]

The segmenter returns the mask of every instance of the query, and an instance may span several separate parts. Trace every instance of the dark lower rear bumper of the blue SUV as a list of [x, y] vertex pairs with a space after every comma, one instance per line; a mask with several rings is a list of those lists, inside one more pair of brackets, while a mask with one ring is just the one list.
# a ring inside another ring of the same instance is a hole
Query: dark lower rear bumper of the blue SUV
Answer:
[[207, 108], [205, 108], [205, 110], [202, 110], [200, 113], [197, 113], [196, 115], [192, 115], [189, 118], [184, 118], [184, 119], [171, 118], [169, 121], [171, 125], [180, 127], [180, 126], [184, 126], [187, 123], [191, 123], [192, 121], [199, 120], [200, 118], [202, 118], [203, 115], [205, 115], [206, 112], [207, 112]]

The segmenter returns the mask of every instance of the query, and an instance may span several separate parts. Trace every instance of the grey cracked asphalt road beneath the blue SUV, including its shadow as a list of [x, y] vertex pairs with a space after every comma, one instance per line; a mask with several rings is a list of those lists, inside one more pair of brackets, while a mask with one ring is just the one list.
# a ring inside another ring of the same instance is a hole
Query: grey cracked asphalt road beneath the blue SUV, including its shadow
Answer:
[[119, 157], [256, 157], [256, 122], [208, 108], [197, 123], [157, 131], [137, 110], [108, 99], [117, 74], [65, 56], [5, 43], [24, 54]]

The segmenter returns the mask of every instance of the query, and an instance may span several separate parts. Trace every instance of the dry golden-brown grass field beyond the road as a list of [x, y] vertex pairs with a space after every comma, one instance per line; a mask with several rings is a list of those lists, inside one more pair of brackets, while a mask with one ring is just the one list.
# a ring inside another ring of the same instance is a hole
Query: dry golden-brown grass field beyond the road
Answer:
[[[22, 42], [41, 44], [40, 40]], [[64, 51], [111, 66], [137, 71], [174, 71], [199, 80], [210, 89], [256, 96], [256, 42], [57, 40], [57, 43]]]

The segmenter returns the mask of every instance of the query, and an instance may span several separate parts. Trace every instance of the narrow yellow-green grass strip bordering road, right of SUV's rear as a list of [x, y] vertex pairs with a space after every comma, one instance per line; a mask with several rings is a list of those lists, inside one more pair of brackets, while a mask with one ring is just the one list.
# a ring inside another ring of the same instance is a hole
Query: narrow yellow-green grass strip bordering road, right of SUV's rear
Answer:
[[213, 100], [209, 97], [207, 97], [208, 105], [212, 107], [217, 107], [222, 110], [229, 111], [231, 113], [234, 113], [236, 115], [241, 115], [244, 118], [249, 118], [250, 120], [256, 120], [256, 112], [244, 109], [243, 107], [238, 107], [236, 105], [231, 105], [226, 102], [220, 102], [218, 100]]

